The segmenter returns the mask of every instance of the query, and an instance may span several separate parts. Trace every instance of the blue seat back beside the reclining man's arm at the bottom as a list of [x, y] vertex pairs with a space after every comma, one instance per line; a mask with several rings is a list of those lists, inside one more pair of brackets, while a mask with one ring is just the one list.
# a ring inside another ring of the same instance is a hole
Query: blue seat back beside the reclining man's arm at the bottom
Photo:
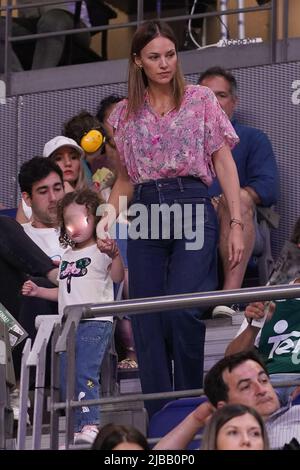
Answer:
[[[207, 401], [205, 396], [179, 398], [178, 400], [170, 401], [151, 417], [148, 427], [148, 438], [165, 436], [205, 401]], [[196, 439], [188, 445], [187, 449], [199, 449], [200, 445], [200, 439]]]

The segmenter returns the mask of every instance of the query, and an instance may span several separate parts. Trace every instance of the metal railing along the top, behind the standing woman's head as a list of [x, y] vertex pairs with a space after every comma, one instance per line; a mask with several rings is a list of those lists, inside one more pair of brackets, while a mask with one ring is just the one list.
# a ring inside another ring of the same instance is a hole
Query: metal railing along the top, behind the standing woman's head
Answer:
[[[5, 64], [4, 64], [4, 79], [6, 83], [6, 90], [7, 94], [10, 95], [10, 88], [11, 88], [11, 59], [10, 59], [10, 43], [20, 42], [20, 41], [32, 41], [36, 39], [42, 39], [45, 37], [55, 37], [55, 36], [69, 36], [78, 33], [96, 33], [101, 31], [108, 31], [108, 30], [115, 30], [115, 29], [122, 29], [122, 28], [129, 28], [139, 26], [141, 22], [143, 22], [144, 18], [144, 11], [143, 11], [143, 0], [137, 0], [137, 21], [127, 22], [127, 23], [119, 23], [119, 24], [108, 24], [105, 26], [92, 26], [86, 28], [76, 28], [71, 30], [61, 30], [58, 32], [48, 32], [48, 33], [40, 33], [40, 34], [28, 34], [25, 36], [18, 36], [13, 37], [11, 36], [11, 22], [12, 22], [12, 11], [18, 9], [26, 9], [26, 8], [33, 8], [38, 6], [45, 6], [45, 5], [57, 5], [60, 3], [73, 3], [74, 0], [49, 0], [46, 3], [41, 4], [40, 2], [35, 2], [29, 5], [12, 5], [12, 1], [8, 0], [6, 6], [0, 7], [0, 11], [6, 11], [6, 25], [5, 25]], [[272, 22], [271, 22], [271, 41], [270, 41], [270, 58], [271, 62], [275, 62], [276, 60], [276, 22], [277, 22], [277, 2], [278, 0], [272, 0], [270, 5], [261, 5], [256, 7], [247, 7], [247, 8], [233, 8], [230, 10], [223, 11], [222, 16], [224, 15], [233, 15], [238, 13], [251, 13], [251, 12], [261, 12], [261, 11], [271, 11]], [[179, 15], [179, 16], [169, 16], [164, 17], [164, 21], [169, 22], [177, 22], [182, 20], [189, 20], [189, 19], [203, 19], [203, 18], [212, 18], [220, 16], [219, 11], [215, 12], [205, 12], [193, 15]], [[287, 41], [285, 42], [287, 47]]]

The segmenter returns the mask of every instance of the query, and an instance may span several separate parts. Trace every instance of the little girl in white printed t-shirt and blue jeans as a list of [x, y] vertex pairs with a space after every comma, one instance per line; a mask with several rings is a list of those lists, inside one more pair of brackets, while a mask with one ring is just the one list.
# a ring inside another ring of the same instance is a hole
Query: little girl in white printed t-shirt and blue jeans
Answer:
[[[23, 295], [58, 300], [59, 314], [67, 305], [110, 302], [113, 282], [123, 280], [123, 264], [114, 240], [107, 240], [102, 252], [96, 241], [96, 211], [99, 198], [91, 190], [68, 193], [59, 210], [60, 241], [69, 248], [59, 268], [59, 287], [47, 289], [26, 281]], [[100, 395], [100, 368], [112, 335], [112, 317], [82, 320], [76, 336], [76, 398], [95, 399]], [[65, 355], [64, 355], [65, 356]], [[63, 357], [61, 368], [65, 367]], [[61, 388], [65, 394], [65, 381]], [[92, 443], [100, 420], [99, 406], [76, 408], [75, 443]]]

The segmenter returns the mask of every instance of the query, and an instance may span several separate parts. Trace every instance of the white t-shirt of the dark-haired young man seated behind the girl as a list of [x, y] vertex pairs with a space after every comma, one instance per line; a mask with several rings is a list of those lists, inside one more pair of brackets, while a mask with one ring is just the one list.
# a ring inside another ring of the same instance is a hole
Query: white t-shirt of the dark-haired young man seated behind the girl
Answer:
[[31, 240], [46, 253], [49, 258], [61, 261], [63, 253], [66, 251], [59, 243], [58, 228], [35, 228], [31, 222], [22, 224], [24, 232]]

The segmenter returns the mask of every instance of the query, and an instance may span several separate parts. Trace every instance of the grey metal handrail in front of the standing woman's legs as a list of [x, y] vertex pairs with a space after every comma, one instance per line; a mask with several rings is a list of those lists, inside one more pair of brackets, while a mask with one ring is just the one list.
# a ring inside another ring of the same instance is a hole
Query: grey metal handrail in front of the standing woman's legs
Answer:
[[[78, 325], [82, 317], [91, 316], [104, 316], [107, 313], [117, 315], [129, 312], [132, 314], [148, 313], [155, 311], [165, 311], [171, 309], [179, 309], [182, 307], [201, 307], [219, 303], [220, 301], [251, 301], [251, 300], [271, 300], [271, 299], [282, 299], [282, 298], [295, 298], [300, 296], [300, 285], [284, 285], [284, 286], [267, 286], [263, 288], [249, 288], [240, 289], [226, 292], [208, 292], [204, 294], [183, 294], [166, 297], [152, 297], [150, 299], [134, 299], [129, 301], [110, 302], [108, 304], [91, 304], [89, 306], [73, 305], [64, 309], [63, 328], [60, 331], [60, 336], [56, 336], [53, 340], [53, 356], [54, 363], [58, 360], [58, 354], [61, 351], [66, 351], [68, 360], [67, 370], [67, 394], [66, 401], [60, 402], [55, 399], [51, 400], [48, 408], [53, 417], [52, 421], [55, 422], [51, 428], [51, 442], [57, 444], [57, 433], [58, 433], [58, 420], [57, 414], [61, 409], [66, 409], [66, 448], [70, 447], [71, 436], [73, 434], [73, 414], [74, 409], [81, 406], [93, 406], [93, 405], [104, 405], [104, 404], [117, 404], [122, 402], [143, 402], [145, 400], [158, 400], [158, 399], [174, 399], [183, 397], [193, 397], [203, 395], [203, 389], [195, 390], [183, 390], [183, 391], [168, 391], [159, 393], [138, 393], [138, 394], [126, 394], [119, 397], [109, 398], [97, 398], [93, 400], [73, 400], [74, 396], [74, 377], [75, 377], [75, 333], [76, 325]], [[64, 320], [67, 320], [64, 323]], [[58, 343], [61, 343], [58, 346]], [[62, 344], [64, 343], [64, 344]], [[63, 347], [62, 347], [63, 346]], [[298, 380], [292, 382], [284, 382], [284, 385], [292, 383], [298, 385]], [[56, 386], [55, 380], [52, 382], [53, 387]], [[54, 421], [54, 417], [56, 421]]]

